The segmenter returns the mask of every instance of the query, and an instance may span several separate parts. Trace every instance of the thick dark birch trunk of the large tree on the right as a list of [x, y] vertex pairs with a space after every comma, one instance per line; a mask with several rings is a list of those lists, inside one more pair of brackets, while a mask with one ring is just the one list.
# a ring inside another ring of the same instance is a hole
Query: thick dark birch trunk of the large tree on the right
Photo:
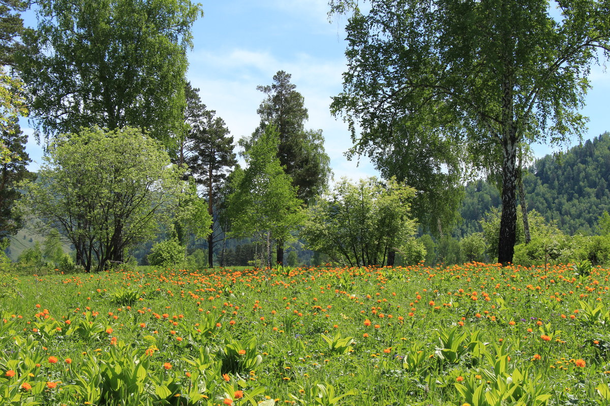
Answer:
[[498, 262], [503, 265], [512, 262], [515, 252], [515, 234], [517, 231], [517, 145], [511, 142], [514, 135], [503, 145], [504, 162], [502, 164], [502, 217], [500, 219], [500, 240], [498, 241]]

